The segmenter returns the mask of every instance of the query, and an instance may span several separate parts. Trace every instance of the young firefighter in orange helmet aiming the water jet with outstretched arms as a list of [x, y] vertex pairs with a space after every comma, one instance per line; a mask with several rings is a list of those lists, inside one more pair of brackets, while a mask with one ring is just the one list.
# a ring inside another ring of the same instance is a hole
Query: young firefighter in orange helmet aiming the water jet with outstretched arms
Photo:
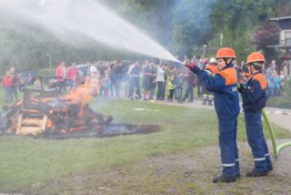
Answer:
[[237, 116], [239, 101], [237, 94], [236, 69], [233, 60], [236, 53], [232, 48], [222, 47], [216, 54], [219, 72], [209, 75], [197, 66], [186, 65], [196, 73], [202, 86], [215, 93], [215, 108], [218, 118], [219, 147], [222, 161], [222, 173], [212, 181], [234, 182], [240, 176], [238, 151], [236, 146]]

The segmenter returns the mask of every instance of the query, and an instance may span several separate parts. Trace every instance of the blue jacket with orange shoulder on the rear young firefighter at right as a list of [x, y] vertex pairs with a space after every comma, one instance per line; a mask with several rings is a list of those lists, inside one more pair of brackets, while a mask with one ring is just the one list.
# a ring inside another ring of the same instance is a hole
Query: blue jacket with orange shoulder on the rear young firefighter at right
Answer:
[[260, 111], [266, 107], [266, 79], [261, 72], [254, 74], [241, 91], [243, 108], [246, 111]]

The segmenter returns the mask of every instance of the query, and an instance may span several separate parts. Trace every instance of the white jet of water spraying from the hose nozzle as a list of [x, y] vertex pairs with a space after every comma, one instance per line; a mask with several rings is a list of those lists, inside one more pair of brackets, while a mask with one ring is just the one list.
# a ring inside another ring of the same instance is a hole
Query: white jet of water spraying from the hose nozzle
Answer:
[[106, 46], [178, 61], [163, 46], [93, 0], [0, 0], [0, 12], [8, 20], [44, 27], [60, 39], [85, 36]]

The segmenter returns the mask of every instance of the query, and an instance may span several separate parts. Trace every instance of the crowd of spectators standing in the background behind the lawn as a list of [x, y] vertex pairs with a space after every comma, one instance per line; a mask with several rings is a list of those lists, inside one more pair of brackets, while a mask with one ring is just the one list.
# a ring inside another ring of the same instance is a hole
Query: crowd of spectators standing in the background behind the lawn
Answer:
[[[177, 56], [179, 58], [179, 56]], [[185, 65], [195, 64], [202, 69], [211, 69], [216, 66], [215, 58], [204, 56], [184, 56], [179, 60]], [[61, 62], [55, 69], [55, 77], [50, 79], [49, 88], [58, 88], [64, 92], [79, 85], [90, 88], [94, 98], [101, 96], [105, 99], [111, 97], [127, 97], [135, 100], [167, 100], [178, 103], [193, 102], [195, 97], [202, 98], [203, 104], [212, 105], [214, 95], [206, 87], [201, 87], [196, 75], [180, 63], [160, 63], [158, 59], [114, 60], [98, 61], [70, 67]], [[210, 67], [209, 67], [210, 66]], [[213, 67], [211, 67], [213, 66]], [[251, 77], [245, 61], [236, 62], [236, 73], [239, 83], [246, 83]], [[282, 96], [284, 83], [290, 78], [290, 64], [284, 61], [281, 66], [273, 60], [263, 73], [267, 81], [269, 97]], [[24, 86], [24, 80], [15, 72], [15, 67], [9, 68], [2, 77], [2, 86], [5, 91], [5, 102], [12, 103], [18, 99], [17, 91]], [[35, 89], [43, 88], [40, 77], [35, 77]], [[194, 88], [196, 87], [196, 94]]]

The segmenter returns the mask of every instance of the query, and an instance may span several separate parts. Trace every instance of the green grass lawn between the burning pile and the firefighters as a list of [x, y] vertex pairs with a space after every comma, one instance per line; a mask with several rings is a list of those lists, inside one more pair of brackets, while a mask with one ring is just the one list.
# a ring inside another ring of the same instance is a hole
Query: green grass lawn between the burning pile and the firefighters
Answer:
[[[114, 123], [151, 124], [163, 130], [106, 139], [1, 136], [0, 190], [17, 191], [61, 176], [217, 145], [217, 119], [213, 110], [129, 100], [99, 101], [91, 103], [91, 107], [105, 116], [112, 115]], [[275, 130], [277, 138], [291, 138], [286, 130]], [[268, 138], [268, 132], [265, 135]], [[242, 116], [238, 121], [238, 139], [246, 141]]]

